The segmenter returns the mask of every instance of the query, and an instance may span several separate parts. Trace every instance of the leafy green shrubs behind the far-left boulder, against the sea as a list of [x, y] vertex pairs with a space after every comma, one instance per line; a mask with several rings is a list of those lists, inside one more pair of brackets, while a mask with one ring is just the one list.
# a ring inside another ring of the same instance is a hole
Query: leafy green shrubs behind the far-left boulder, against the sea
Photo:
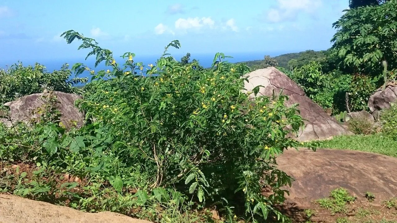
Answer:
[[71, 78], [69, 65], [64, 64], [59, 71], [49, 73], [46, 67], [36, 63], [24, 67], [22, 63], [13, 64], [8, 69], [0, 69], [0, 99], [2, 104], [29, 94], [41, 93], [43, 89], [65, 93], [80, 93], [79, 83], [86, 83], [87, 78]]

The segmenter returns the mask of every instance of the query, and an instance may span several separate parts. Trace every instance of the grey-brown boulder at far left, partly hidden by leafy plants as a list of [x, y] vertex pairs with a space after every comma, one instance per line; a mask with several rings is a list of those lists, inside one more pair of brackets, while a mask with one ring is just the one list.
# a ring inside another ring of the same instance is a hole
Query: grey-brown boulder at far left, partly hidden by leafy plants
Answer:
[[[45, 99], [42, 96], [48, 96], [49, 93], [37, 93], [24, 96], [12, 102], [7, 102], [4, 105], [10, 108], [9, 120], [1, 119], [6, 125], [10, 126], [13, 122], [24, 121], [27, 123], [33, 118], [37, 118], [37, 111], [44, 103]], [[84, 113], [80, 112], [78, 108], [74, 106], [75, 100], [81, 98], [77, 94], [68, 94], [63, 92], [53, 92], [58, 100], [56, 108], [60, 111], [63, 125], [66, 129], [72, 127], [81, 127], [84, 124]]]

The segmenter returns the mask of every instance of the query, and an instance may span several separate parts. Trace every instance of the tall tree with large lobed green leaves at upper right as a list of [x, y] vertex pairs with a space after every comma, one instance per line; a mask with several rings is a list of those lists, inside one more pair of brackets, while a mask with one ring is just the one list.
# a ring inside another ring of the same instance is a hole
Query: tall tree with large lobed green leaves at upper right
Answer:
[[334, 54], [358, 71], [377, 75], [382, 60], [397, 68], [397, 1], [346, 10], [333, 23], [338, 29], [331, 42]]

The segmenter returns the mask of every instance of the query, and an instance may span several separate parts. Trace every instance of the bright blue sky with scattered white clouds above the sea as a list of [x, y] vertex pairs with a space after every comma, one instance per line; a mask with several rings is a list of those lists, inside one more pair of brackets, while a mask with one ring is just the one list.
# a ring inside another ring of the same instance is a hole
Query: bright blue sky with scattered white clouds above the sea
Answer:
[[1, 0], [0, 67], [83, 60], [77, 43], [59, 37], [70, 29], [115, 55], [157, 56], [175, 39], [182, 44], [175, 55], [325, 50], [346, 8], [348, 0]]

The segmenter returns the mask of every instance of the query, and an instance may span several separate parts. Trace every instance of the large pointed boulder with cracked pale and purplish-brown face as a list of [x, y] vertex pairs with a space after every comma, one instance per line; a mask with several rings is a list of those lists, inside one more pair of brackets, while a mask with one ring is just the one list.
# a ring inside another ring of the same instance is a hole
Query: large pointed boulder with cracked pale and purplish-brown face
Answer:
[[[252, 91], [254, 87], [262, 85], [264, 87], [260, 87], [258, 95], [271, 96], [273, 90], [278, 94], [283, 89], [283, 94], [289, 97], [289, 100], [285, 102], [285, 106], [299, 104], [297, 108], [301, 112], [300, 115], [305, 119], [305, 127], [301, 129], [298, 137], [291, 135], [293, 138], [299, 141], [310, 141], [353, 134], [340, 125], [334, 117], [328, 115], [323, 108], [308, 98], [297, 83], [275, 67], [258, 69], [248, 73], [247, 76], [249, 76], [249, 82], [245, 83], [247, 91]], [[252, 93], [250, 98], [254, 97]]]

